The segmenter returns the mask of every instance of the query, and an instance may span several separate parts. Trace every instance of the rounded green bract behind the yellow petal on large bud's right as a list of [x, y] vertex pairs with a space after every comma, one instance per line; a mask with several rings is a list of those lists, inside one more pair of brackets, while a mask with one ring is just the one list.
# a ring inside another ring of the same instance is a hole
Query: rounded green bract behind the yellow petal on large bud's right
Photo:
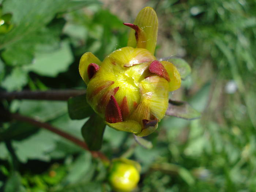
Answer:
[[178, 71], [180, 72], [181, 79], [186, 79], [189, 74], [191, 74], [191, 67], [184, 59], [180, 58], [170, 58], [168, 59], [171, 63], [177, 67]]

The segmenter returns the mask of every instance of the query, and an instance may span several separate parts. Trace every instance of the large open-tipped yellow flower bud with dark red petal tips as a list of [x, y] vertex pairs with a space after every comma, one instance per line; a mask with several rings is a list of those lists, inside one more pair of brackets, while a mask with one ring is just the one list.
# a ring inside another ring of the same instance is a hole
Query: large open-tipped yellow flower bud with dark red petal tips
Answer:
[[[153, 8], [140, 11], [128, 46], [110, 53], [102, 62], [84, 53], [79, 72], [87, 84], [87, 102], [110, 127], [147, 136], [165, 116], [169, 91], [180, 87], [176, 67], [155, 56], [158, 20]], [[135, 32], [134, 32], [135, 31]]]

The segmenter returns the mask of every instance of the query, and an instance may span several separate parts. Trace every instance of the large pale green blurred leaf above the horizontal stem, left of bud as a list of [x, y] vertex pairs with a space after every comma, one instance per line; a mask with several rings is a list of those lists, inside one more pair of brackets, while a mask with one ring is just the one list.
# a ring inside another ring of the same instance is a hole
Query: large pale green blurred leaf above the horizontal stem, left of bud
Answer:
[[34, 63], [24, 68], [42, 76], [56, 77], [60, 72], [67, 71], [72, 62], [73, 55], [69, 42], [63, 41], [60, 49], [48, 53], [36, 53]]

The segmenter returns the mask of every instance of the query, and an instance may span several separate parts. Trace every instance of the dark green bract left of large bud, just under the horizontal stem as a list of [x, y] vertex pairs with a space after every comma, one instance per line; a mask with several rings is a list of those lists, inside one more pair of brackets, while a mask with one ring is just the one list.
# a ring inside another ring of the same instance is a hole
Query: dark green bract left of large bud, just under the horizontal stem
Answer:
[[93, 113], [93, 109], [86, 101], [86, 94], [68, 99], [68, 114], [71, 119], [83, 119]]

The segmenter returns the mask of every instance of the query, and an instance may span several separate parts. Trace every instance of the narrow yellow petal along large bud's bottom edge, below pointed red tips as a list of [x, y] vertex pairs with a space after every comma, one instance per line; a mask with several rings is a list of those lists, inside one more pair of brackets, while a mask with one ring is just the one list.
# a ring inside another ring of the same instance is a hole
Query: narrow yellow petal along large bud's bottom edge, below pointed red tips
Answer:
[[128, 121], [122, 121], [118, 123], [108, 123], [105, 122], [109, 127], [112, 127], [118, 131], [126, 131], [131, 133], [140, 133], [141, 132], [141, 126], [138, 122], [128, 120]]

